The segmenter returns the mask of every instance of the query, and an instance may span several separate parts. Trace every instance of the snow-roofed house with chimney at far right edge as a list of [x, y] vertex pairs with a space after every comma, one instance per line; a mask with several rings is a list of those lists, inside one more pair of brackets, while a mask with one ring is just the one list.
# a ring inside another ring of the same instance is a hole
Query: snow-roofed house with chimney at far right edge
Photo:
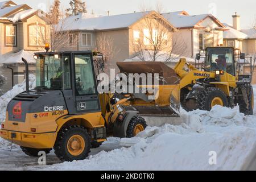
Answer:
[[224, 33], [224, 45], [241, 49], [246, 55], [256, 55], [256, 28], [241, 29], [240, 15], [232, 16], [233, 24], [227, 24], [228, 31]]

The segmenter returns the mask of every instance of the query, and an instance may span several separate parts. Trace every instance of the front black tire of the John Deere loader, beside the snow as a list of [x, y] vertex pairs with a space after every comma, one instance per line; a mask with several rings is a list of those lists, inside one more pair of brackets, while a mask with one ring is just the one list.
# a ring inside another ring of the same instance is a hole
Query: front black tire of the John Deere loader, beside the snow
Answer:
[[127, 138], [135, 137], [134, 130], [137, 127], [137, 125], [141, 125], [143, 127], [143, 130], [146, 129], [146, 127], [147, 127], [147, 123], [144, 118], [134, 116], [133, 118], [131, 118], [131, 121], [129, 122], [129, 125], [126, 130]]

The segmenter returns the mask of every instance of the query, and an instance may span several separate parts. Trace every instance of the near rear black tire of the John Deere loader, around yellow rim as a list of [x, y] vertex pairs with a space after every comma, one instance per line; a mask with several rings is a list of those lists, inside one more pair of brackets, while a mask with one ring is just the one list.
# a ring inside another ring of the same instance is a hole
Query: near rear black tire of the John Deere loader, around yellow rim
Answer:
[[[74, 135], [79, 135], [85, 143], [84, 150], [79, 155], [72, 155], [68, 151], [68, 141]], [[56, 156], [62, 161], [84, 160], [90, 152], [90, 137], [87, 130], [82, 126], [72, 125], [64, 127], [59, 131], [53, 148]]]

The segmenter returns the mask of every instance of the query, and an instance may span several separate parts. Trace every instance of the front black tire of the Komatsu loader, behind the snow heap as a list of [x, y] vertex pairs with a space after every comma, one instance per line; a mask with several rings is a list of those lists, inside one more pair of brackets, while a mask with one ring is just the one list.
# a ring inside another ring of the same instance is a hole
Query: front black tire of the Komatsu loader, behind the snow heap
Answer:
[[198, 96], [196, 100], [197, 109], [201, 110], [210, 110], [212, 109], [212, 101], [214, 98], [219, 97], [223, 102], [224, 107], [228, 107], [228, 97], [226, 94], [219, 88], [216, 87], [208, 87], [205, 88]]

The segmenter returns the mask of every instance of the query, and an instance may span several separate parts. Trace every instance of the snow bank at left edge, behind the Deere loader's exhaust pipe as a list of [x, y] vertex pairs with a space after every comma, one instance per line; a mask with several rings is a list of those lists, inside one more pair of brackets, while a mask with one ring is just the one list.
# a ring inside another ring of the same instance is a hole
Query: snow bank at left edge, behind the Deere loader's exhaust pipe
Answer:
[[[29, 75], [29, 88], [35, 88], [35, 76]], [[5, 121], [6, 106], [7, 104], [19, 93], [26, 90], [26, 81], [24, 80], [22, 84], [15, 85], [13, 89], [9, 90], [3, 96], [0, 97], [0, 123]]]

